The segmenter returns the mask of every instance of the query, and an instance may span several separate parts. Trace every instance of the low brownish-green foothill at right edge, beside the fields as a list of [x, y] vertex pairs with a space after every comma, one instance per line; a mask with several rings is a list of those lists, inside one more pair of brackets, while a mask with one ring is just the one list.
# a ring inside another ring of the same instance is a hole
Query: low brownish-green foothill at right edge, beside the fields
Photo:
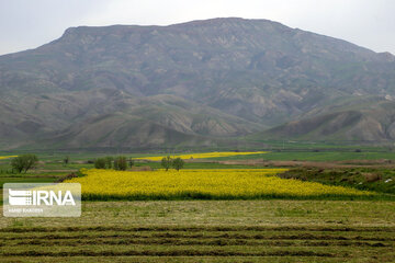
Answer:
[[395, 140], [395, 102], [353, 105], [305, 117], [271, 128], [251, 138], [297, 140], [349, 140], [385, 142]]

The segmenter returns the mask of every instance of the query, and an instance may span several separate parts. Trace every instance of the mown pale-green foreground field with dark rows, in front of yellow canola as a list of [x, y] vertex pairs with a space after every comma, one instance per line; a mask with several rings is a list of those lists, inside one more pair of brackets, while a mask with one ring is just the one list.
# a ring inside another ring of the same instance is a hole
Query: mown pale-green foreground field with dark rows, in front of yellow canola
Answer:
[[1, 218], [1, 262], [391, 262], [395, 203], [84, 203], [81, 218]]

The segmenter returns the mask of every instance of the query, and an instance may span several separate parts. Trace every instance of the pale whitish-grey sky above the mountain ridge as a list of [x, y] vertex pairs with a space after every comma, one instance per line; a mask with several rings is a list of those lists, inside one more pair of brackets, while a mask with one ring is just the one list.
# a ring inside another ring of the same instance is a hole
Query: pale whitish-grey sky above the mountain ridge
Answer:
[[0, 0], [0, 55], [35, 48], [78, 25], [168, 25], [269, 19], [395, 54], [395, 0]]

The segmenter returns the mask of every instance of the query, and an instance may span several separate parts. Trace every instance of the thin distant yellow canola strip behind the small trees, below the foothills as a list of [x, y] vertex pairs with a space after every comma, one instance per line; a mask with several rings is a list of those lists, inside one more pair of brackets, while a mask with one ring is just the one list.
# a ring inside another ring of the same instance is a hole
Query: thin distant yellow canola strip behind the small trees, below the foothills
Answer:
[[[205, 158], [217, 158], [217, 157], [232, 157], [232, 156], [248, 156], [248, 155], [262, 155], [268, 153], [268, 151], [221, 151], [221, 152], [204, 152], [204, 153], [190, 153], [190, 155], [176, 155], [171, 156], [172, 158], [181, 159], [205, 159]], [[135, 158], [137, 160], [150, 160], [150, 161], [160, 161], [165, 156], [157, 157], [139, 157]]]

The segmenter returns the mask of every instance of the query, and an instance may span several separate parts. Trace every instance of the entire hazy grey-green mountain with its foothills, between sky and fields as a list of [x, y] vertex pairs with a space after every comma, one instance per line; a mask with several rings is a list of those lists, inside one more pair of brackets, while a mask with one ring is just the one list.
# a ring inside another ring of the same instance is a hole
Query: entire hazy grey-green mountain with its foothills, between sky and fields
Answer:
[[0, 95], [5, 148], [395, 139], [393, 55], [268, 20], [71, 27], [1, 56]]

